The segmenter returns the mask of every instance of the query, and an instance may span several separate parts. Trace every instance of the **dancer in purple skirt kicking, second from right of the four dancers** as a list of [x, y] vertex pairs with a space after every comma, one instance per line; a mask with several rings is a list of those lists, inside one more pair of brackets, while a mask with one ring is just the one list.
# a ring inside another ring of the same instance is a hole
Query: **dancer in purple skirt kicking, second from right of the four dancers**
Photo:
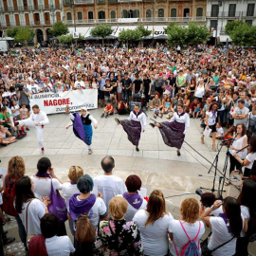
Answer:
[[[141, 134], [141, 123], [142, 123], [142, 133], [145, 132], [146, 129], [146, 116], [139, 109], [139, 105], [136, 104], [134, 110], [131, 111], [129, 119], [119, 120], [115, 119], [118, 124], [122, 125], [123, 130], [128, 136], [128, 139], [136, 146], [136, 150], [138, 149], [138, 142]], [[141, 122], [141, 123], [140, 123]]]

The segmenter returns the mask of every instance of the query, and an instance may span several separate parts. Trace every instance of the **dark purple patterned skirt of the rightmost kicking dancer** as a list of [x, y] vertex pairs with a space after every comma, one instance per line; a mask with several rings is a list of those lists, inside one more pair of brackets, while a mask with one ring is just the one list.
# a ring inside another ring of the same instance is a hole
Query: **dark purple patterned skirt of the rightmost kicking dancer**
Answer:
[[185, 123], [174, 120], [172, 122], [163, 121], [160, 124], [159, 131], [164, 143], [169, 147], [180, 149], [184, 141], [183, 132], [185, 131]]

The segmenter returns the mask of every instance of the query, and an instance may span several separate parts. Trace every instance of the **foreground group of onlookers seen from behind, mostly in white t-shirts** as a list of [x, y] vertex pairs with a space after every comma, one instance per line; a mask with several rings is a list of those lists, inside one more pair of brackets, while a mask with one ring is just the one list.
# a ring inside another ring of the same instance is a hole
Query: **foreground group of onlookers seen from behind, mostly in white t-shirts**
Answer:
[[[244, 181], [238, 199], [220, 201], [212, 192], [202, 193], [200, 203], [186, 198], [180, 219], [174, 219], [163, 192], [153, 190], [147, 197], [139, 176], [123, 181], [115, 175], [112, 156], [102, 158], [101, 168], [103, 174], [92, 178], [71, 166], [64, 182], [47, 157], [39, 159], [30, 177], [21, 156], [9, 159], [0, 218], [4, 225], [2, 210], [15, 217], [28, 255], [244, 256], [255, 240], [256, 183], [251, 179]], [[206, 227], [211, 233], [201, 242]], [[1, 255], [8, 255], [3, 236], [1, 226]]]

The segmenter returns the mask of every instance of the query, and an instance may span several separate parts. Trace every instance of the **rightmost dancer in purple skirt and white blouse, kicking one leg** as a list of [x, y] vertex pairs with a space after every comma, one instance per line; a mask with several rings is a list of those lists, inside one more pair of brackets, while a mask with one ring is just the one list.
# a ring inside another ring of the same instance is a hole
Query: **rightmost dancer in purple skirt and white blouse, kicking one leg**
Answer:
[[190, 117], [184, 111], [183, 104], [177, 104], [177, 112], [170, 121], [155, 122], [150, 125], [159, 128], [164, 143], [169, 147], [175, 147], [179, 156], [185, 134], [190, 127]]

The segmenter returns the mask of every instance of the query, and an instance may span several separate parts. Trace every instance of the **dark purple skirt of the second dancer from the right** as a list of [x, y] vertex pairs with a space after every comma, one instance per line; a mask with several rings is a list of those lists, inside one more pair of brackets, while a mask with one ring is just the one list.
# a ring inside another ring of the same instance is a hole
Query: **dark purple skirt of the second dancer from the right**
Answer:
[[141, 134], [140, 121], [125, 119], [122, 120], [121, 125], [123, 130], [126, 132], [128, 139], [133, 143], [133, 145], [137, 146]]

